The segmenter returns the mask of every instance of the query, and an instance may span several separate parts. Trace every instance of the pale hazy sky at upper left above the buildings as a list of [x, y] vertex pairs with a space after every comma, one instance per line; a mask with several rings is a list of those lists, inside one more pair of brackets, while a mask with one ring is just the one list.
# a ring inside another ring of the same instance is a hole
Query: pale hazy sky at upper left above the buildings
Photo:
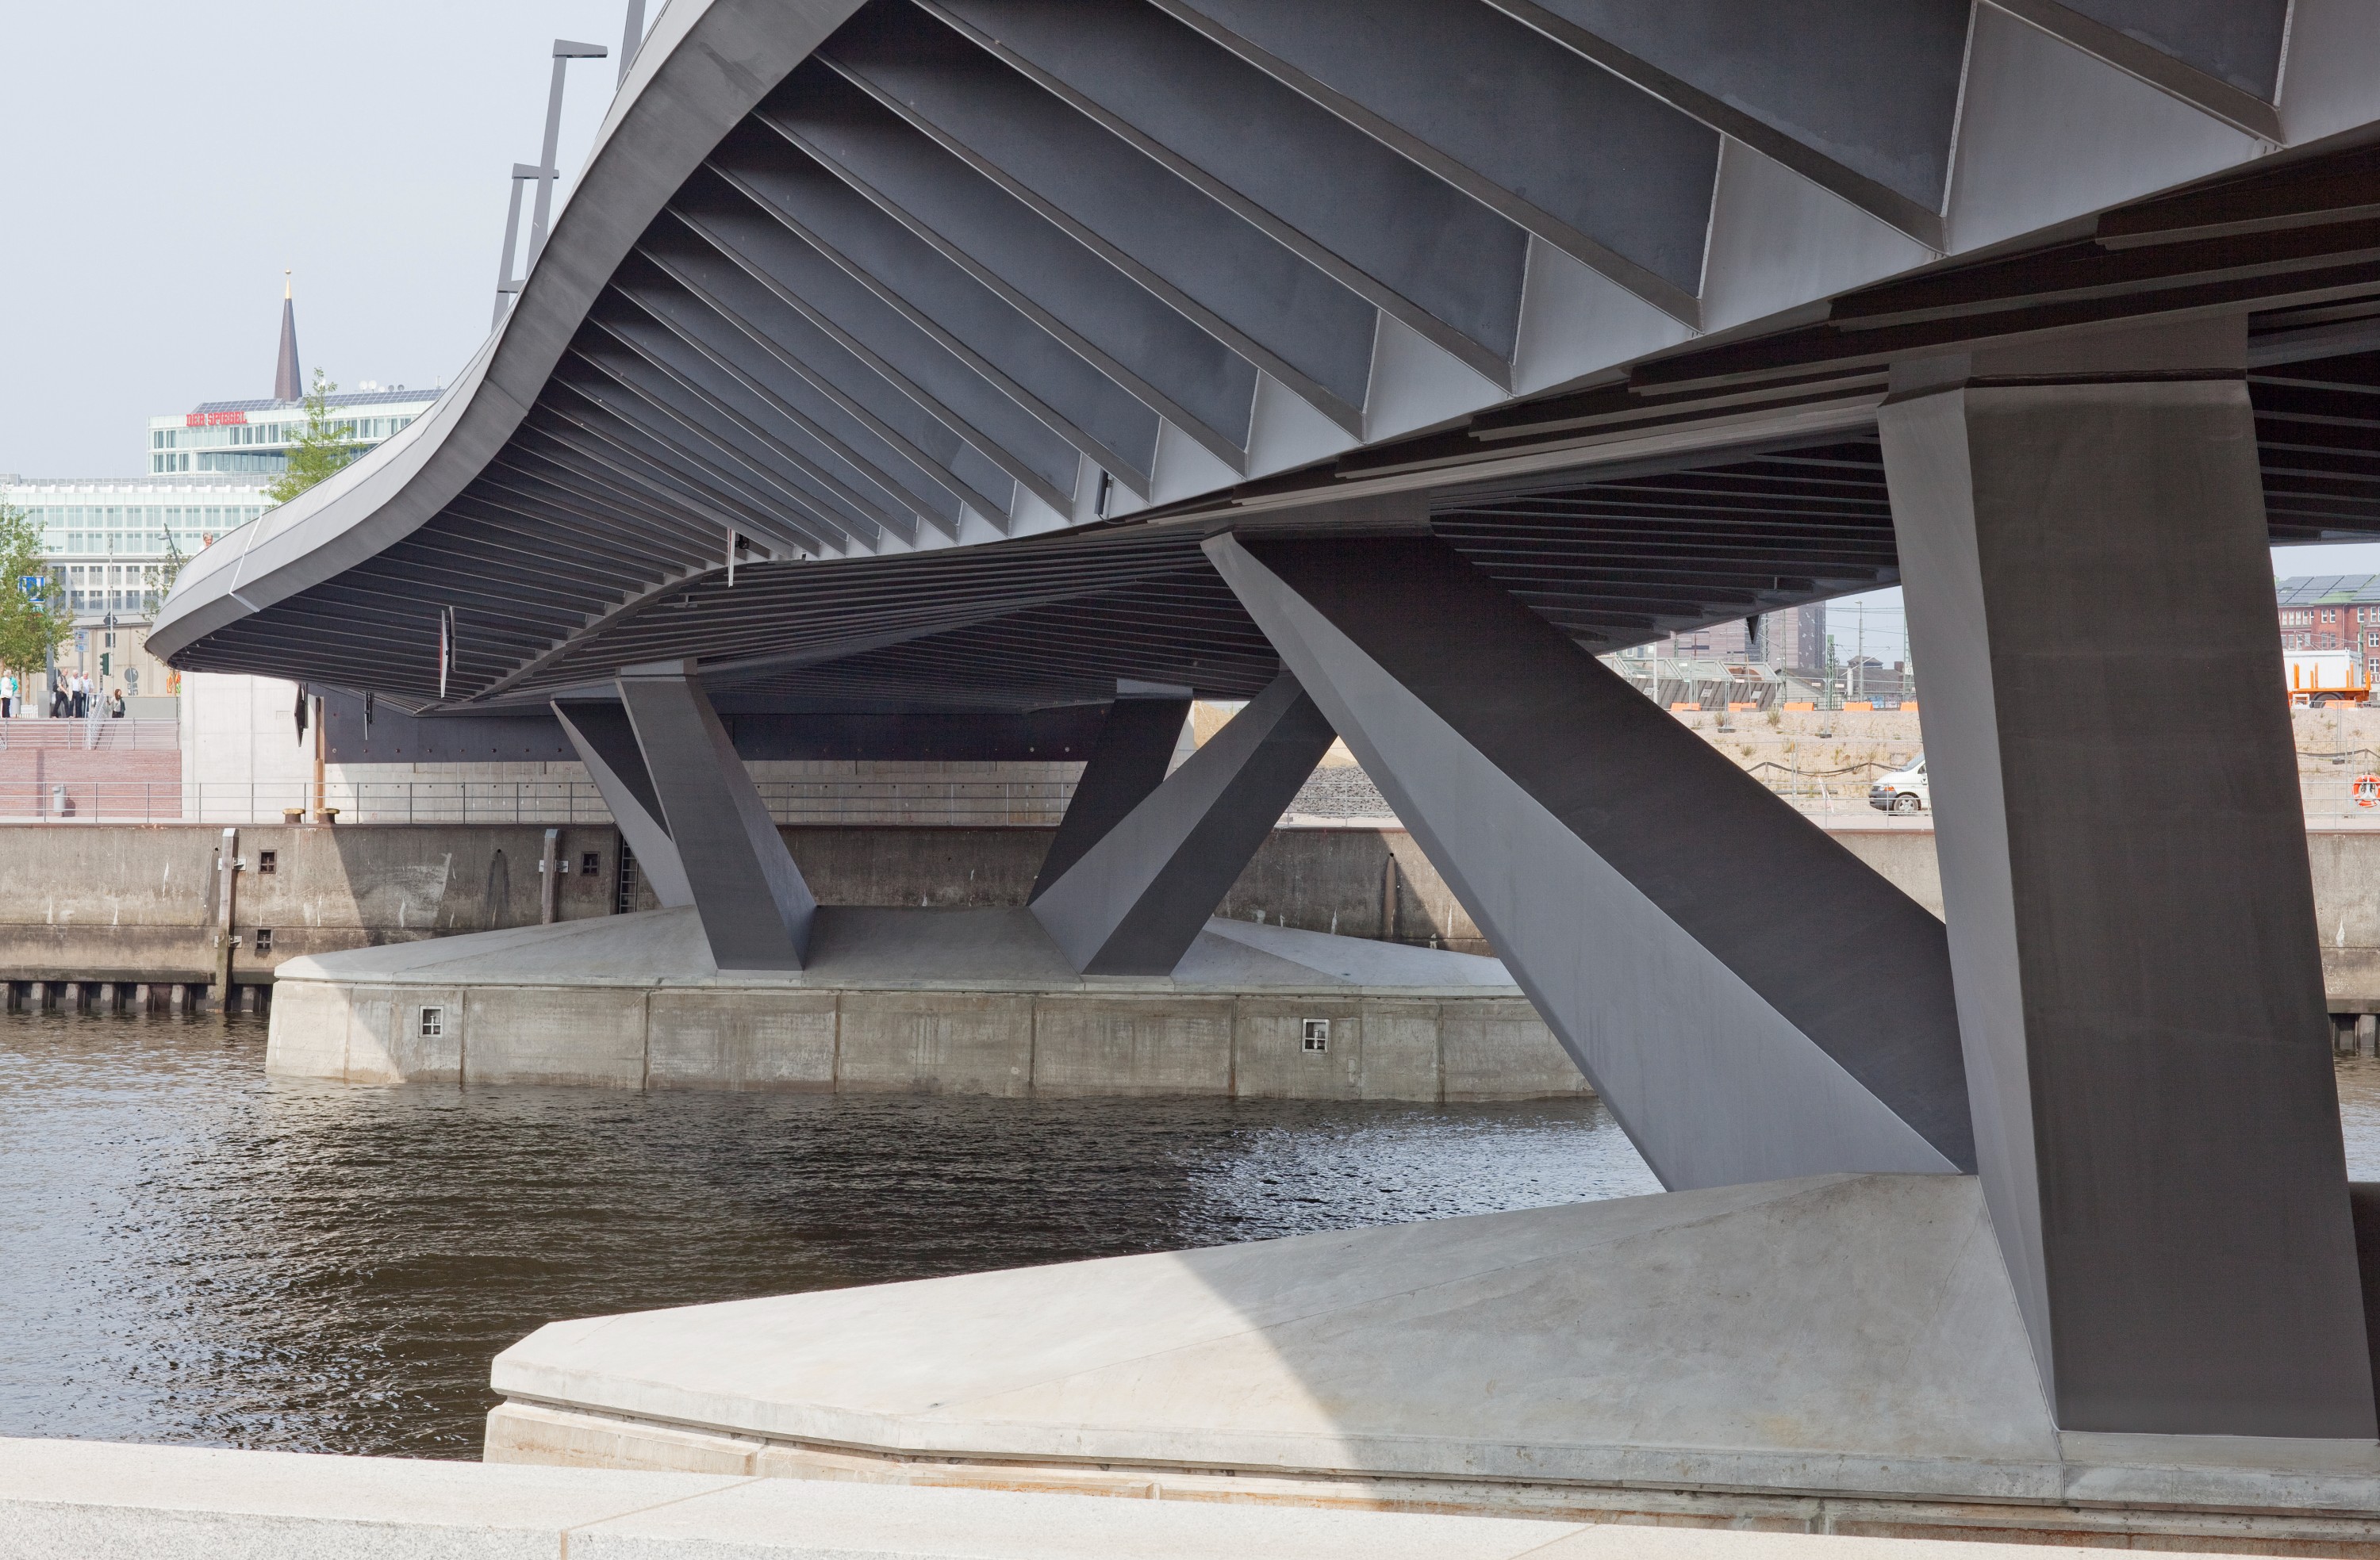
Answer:
[[[283, 269], [307, 369], [445, 383], [488, 333], [552, 40], [616, 55], [626, 5], [21, 0], [0, 17], [0, 471], [136, 476], [150, 416], [271, 395]], [[571, 67], [564, 188], [616, 74]]]

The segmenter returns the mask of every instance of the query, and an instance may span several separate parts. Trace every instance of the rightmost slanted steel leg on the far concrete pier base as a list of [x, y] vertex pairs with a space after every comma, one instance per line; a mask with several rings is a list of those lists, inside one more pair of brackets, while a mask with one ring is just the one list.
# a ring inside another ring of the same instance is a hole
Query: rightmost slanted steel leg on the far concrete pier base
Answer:
[[1330, 740], [1297, 678], [1280, 673], [1040, 887], [1033, 916], [1085, 975], [1171, 975]]

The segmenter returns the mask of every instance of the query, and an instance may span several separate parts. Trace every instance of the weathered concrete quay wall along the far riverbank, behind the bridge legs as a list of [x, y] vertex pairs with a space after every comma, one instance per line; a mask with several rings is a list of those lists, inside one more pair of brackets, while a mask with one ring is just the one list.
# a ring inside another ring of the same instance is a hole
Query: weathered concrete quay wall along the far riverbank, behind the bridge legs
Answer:
[[[785, 828], [823, 904], [1023, 904], [1050, 844], [1040, 828]], [[1856, 820], [1835, 837], [1942, 913], [1933, 830]], [[240, 980], [305, 954], [538, 923], [540, 825], [243, 828]], [[212, 825], [0, 825], [0, 980], [205, 980], [214, 946]], [[274, 851], [274, 873], [257, 870]], [[562, 920], [609, 916], [619, 835], [566, 825]], [[597, 858], [597, 873], [578, 870]], [[2335, 1013], [2380, 1011], [2380, 830], [2309, 832], [2323, 973]], [[1395, 868], [1390, 868], [1395, 863]], [[638, 908], [650, 908], [650, 894]], [[1216, 911], [1309, 932], [1492, 954], [1404, 830], [1285, 828]], [[271, 949], [257, 949], [271, 930]], [[1856, 956], [1856, 951], [1854, 951]]]

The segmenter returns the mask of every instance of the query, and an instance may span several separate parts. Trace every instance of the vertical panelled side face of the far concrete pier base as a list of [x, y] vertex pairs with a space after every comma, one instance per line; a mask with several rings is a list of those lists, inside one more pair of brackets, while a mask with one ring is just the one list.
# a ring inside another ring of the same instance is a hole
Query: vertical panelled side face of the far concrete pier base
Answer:
[[[436, 1037], [421, 1011], [438, 1008]], [[1328, 1051], [1304, 1049], [1328, 1018]], [[288, 980], [267, 1065], [350, 1084], [1488, 1101], [1590, 1094], [1518, 996]]]

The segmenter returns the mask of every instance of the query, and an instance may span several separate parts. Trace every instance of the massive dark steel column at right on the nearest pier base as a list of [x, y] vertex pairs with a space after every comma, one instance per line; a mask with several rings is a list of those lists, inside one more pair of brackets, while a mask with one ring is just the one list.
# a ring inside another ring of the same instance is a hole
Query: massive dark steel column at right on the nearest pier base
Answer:
[[2059, 1424], [2373, 1436], [2244, 328], [1880, 414], [1975, 1146]]

